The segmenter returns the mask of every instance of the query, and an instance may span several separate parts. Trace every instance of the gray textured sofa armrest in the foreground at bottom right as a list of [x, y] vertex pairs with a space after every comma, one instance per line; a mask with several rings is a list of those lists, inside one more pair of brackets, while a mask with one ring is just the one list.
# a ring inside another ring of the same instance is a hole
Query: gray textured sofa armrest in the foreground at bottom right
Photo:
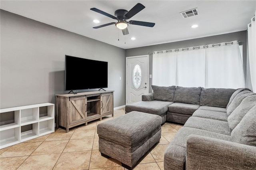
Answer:
[[189, 135], [186, 170], [255, 170], [256, 147], [216, 138]]

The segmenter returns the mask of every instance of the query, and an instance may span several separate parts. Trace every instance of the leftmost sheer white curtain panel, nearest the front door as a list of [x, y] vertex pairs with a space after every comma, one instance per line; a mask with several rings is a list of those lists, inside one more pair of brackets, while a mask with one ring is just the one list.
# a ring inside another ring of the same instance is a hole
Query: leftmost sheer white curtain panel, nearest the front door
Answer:
[[[172, 50], [174, 51], [174, 50]], [[152, 85], [176, 85], [176, 52], [154, 52], [152, 61]]]

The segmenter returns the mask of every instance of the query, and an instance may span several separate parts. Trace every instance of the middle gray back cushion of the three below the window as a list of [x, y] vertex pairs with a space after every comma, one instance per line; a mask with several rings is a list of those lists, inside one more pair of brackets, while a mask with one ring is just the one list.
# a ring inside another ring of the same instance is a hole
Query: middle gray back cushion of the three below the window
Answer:
[[174, 102], [200, 105], [202, 87], [176, 87]]

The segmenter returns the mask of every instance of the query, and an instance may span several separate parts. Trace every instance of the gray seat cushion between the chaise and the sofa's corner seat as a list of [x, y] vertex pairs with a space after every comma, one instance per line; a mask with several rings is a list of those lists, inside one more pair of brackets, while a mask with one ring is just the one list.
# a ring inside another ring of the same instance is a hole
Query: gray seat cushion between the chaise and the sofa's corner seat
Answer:
[[168, 106], [168, 112], [192, 115], [198, 108], [199, 105], [173, 103], [172, 105]]

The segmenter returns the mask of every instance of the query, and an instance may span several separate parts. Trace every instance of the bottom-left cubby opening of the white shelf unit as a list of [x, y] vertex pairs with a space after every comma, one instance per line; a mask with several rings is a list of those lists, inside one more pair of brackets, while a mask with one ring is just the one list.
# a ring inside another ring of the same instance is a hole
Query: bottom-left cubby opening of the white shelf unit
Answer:
[[0, 149], [20, 142], [20, 127], [0, 131]]

